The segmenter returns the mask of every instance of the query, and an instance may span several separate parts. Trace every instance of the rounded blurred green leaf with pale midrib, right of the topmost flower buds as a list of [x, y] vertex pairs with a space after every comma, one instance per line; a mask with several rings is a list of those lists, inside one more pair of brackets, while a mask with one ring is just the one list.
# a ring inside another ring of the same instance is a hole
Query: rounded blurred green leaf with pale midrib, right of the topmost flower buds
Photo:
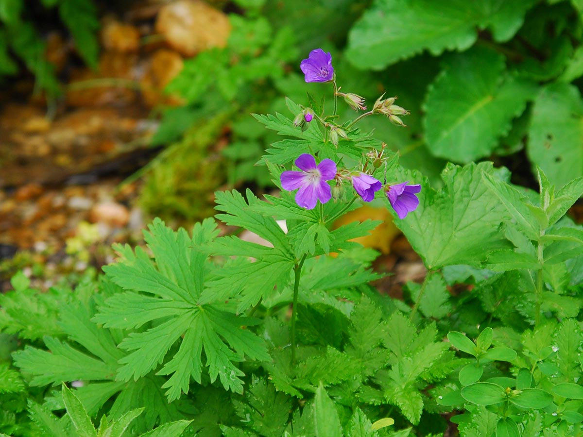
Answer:
[[424, 105], [432, 154], [465, 164], [496, 149], [536, 91], [531, 82], [503, 72], [504, 57], [480, 47], [444, 65]]

